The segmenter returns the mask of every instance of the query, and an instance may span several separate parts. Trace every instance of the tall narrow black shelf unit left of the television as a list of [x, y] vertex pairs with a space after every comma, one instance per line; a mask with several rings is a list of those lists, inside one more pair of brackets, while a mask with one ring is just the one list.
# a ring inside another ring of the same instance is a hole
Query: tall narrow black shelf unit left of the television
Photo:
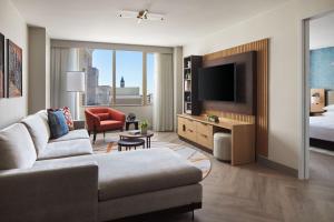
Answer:
[[200, 56], [184, 58], [184, 113], [200, 114], [198, 101], [198, 69], [202, 68]]

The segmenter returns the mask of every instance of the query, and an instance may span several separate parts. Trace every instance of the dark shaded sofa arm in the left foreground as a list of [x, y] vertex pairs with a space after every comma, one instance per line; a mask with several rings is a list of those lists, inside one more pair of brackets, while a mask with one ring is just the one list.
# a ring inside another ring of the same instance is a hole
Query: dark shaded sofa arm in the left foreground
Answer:
[[97, 221], [94, 162], [0, 173], [0, 221]]

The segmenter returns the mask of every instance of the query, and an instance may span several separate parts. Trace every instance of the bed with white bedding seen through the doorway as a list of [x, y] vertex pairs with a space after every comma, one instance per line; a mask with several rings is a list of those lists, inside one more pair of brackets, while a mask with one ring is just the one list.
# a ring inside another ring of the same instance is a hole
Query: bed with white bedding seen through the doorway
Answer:
[[310, 145], [334, 151], [334, 105], [321, 115], [310, 117]]

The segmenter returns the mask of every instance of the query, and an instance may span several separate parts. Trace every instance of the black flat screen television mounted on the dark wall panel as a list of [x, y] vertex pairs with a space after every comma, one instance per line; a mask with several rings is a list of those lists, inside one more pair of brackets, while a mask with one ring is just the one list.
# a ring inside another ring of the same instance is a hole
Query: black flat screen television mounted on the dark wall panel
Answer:
[[202, 68], [198, 70], [199, 101], [235, 101], [235, 63]]

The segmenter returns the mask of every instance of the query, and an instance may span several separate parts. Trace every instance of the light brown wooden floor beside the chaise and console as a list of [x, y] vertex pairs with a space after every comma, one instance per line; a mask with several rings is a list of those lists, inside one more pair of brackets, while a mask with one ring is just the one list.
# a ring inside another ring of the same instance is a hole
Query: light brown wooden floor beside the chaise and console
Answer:
[[[176, 133], [158, 133], [155, 139], [184, 143]], [[195, 221], [334, 222], [334, 157], [312, 152], [308, 181], [257, 164], [230, 167], [209, 157], [213, 168], [202, 182], [203, 209], [195, 211]], [[191, 221], [191, 214], [154, 221]]]

